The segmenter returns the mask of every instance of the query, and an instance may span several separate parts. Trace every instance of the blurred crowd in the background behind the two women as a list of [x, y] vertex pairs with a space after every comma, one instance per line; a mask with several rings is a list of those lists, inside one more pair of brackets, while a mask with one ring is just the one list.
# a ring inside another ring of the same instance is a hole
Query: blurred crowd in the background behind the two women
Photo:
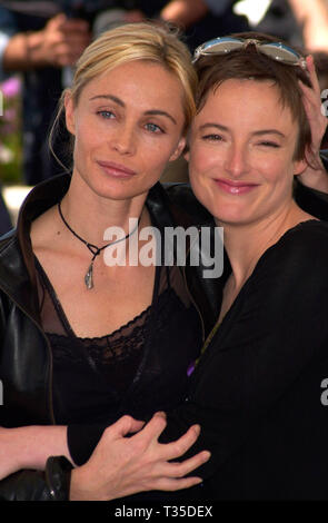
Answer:
[[[192, 52], [206, 40], [259, 30], [311, 52], [328, 88], [328, 0], [0, 0], [0, 184], [34, 186], [63, 171], [67, 134], [48, 135], [73, 65], [92, 38], [118, 24], [178, 26]], [[326, 137], [322, 142], [326, 146]], [[180, 159], [163, 180], [188, 179]], [[0, 201], [0, 233], [11, 226]]]

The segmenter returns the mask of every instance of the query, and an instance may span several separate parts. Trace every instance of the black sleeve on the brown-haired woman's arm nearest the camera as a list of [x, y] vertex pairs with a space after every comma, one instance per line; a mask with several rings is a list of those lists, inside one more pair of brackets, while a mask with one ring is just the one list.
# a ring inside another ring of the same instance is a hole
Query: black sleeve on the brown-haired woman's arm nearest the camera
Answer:
[[259, 260], [196, 368], [188, 401], [169, 413], [161, 441], [199, 423], [188, 455], [211, 451], [197, 473], [218, 472], [310, 364], [327, 361], [327, 313], [328, 227], [309, 225]]

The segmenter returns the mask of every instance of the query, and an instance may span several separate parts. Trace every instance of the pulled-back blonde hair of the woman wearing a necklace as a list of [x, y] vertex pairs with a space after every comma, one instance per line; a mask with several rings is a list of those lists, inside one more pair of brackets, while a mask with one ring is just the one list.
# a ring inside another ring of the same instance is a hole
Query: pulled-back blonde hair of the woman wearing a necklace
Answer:
[[[50, 131], [50, 150], [53, 155], [51, 146], [53, 132], [63, 111], [67, 92], [72, 97], [73, 103], [78, 105], [80, 95], [88, 82], [118, 66], [135, 60], [158, 63], [181, 82], [183, 134], [187, 132], [196, 112], [195, 96], [198, 83], [187, 46], [179, 40], [177, 29], [170, 26], [158, 26], [151, 22], [127, 23], [100, 34], [77, 61], [72, 86], [64, 89], [61, 95], [59, 109]], [[54, 157], [57, 158], [56, 155]], [[60, 161], [58, 158], [57, 160]]]

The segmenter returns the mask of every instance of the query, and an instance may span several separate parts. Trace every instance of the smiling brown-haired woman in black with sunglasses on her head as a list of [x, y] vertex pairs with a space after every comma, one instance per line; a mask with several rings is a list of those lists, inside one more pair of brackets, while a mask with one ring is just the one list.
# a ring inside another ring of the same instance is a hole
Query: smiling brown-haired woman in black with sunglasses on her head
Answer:
[[205, 499], [327, 500], [328, 225], [292, 195], [310, 146], [306, 60], [246, 33], [203, 45], [195, 65], [190, 180], [229, 263], [189, 401], [165, 435], [201, 424]]

